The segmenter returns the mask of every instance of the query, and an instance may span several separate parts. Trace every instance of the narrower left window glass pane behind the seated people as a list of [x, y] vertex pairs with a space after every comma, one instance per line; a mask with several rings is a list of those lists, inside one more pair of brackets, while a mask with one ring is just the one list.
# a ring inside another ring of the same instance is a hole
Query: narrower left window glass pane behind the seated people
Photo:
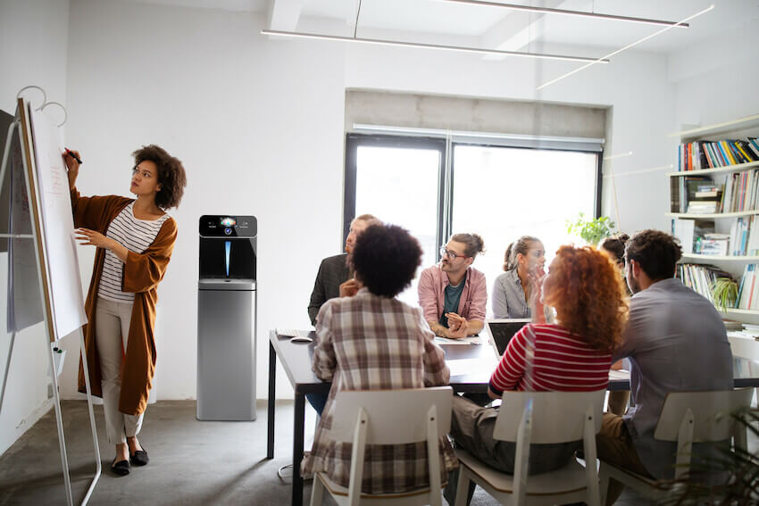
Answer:
[[[421, 244], [421, 269], [435, 262], [439, 170], [438, 150], [360, 145], [356, 153], [355, 215], [407, 228]], [[402, 301], [418, 303], [419, 272]]]

